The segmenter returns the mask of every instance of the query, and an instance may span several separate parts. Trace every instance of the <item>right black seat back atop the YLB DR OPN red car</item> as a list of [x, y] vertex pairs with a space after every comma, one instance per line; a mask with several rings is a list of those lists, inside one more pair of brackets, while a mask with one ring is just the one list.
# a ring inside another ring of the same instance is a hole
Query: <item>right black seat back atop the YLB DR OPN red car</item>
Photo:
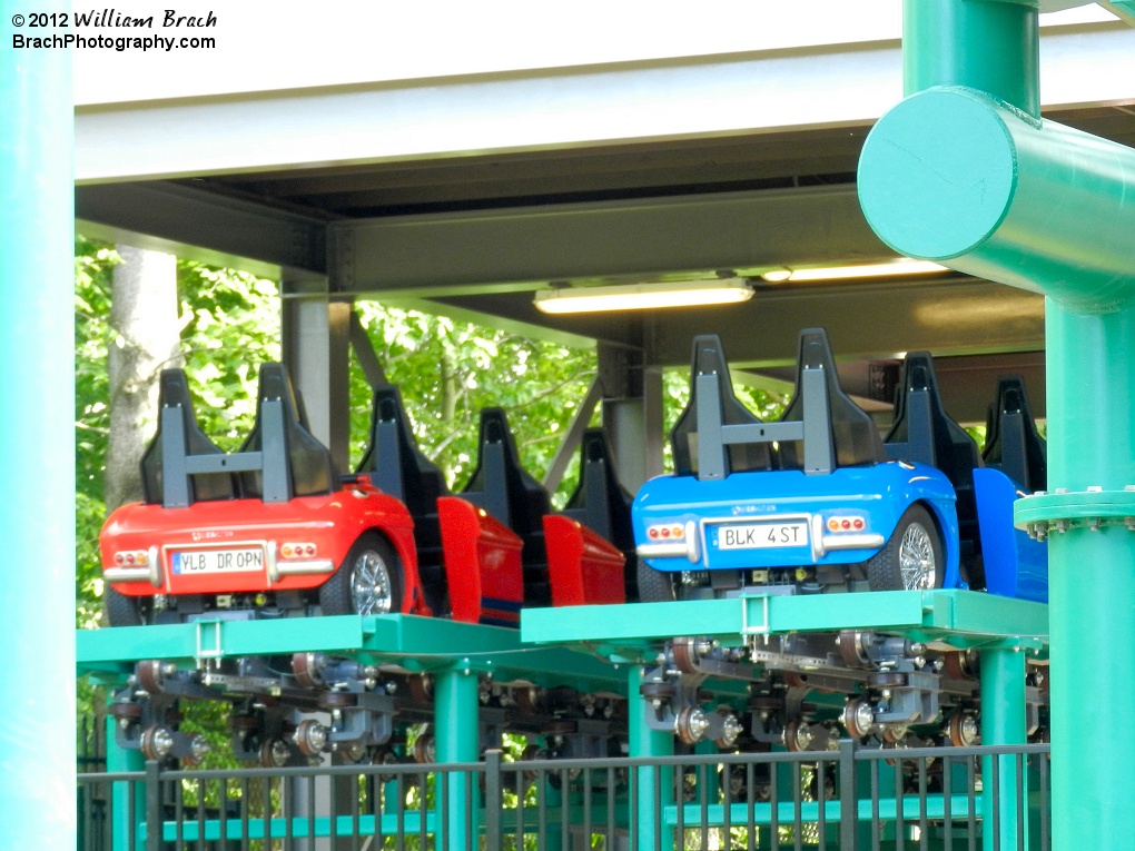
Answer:
[[241, 494], [266, 503], [330, 494], [338, 483], [331, 454], [302, 420], [283, 363], [260, 366], [257, 421], [237, 455], [260, 453], [260, 469], [238, 474]]

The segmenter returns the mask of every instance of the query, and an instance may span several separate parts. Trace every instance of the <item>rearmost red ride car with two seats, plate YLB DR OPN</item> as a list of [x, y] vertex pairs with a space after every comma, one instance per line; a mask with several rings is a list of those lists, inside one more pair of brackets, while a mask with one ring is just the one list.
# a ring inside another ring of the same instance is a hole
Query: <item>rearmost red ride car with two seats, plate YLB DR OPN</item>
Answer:
[[182, 370], [161, 376], [145, 502], [100, 537], [112, 626], [209, 618], [431, 614], [413, 521], [365, 475], [340, 482], [284, 366], [260, 369], [257, 422], [236, 453], [197, 427]]

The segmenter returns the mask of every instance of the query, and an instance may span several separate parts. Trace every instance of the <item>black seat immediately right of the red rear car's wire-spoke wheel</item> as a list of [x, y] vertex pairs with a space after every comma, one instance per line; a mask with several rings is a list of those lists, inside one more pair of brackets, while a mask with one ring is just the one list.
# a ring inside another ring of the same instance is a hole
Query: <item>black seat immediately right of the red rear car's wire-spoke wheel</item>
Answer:
[[448, 607], [437, 498], [448, 495], [449, 489], [438, 466], [418, 448], [402, 393], [394, 385], [375, 390], [370, 445], [355, 472], [369, 475], [376, 488], [401, 499], [410, 511], [426, 603], [436, 613], [445, 612]]

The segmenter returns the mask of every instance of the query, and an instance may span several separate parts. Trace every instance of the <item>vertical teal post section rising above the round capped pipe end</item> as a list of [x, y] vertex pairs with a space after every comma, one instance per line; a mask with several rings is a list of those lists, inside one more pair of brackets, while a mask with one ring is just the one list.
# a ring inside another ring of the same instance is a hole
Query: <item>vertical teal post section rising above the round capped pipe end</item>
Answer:
[[969, 86], [1040, 117], [1039, 33], [1027, 2], [905, 0], [903, 92]]

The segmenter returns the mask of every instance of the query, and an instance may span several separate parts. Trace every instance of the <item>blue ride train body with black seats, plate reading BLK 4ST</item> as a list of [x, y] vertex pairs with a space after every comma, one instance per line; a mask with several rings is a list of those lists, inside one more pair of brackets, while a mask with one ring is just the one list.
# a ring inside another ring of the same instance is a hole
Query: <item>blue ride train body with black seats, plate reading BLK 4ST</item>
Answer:
[[914, 353], [884, 444], [839, 389], [824, 331], [807, 329], [796, 396], [780, 422], [762, 423], [733, 396], [721, 342], [698, 337], [690, 404], [671, 433], [678, 472], [648, 481], [632, 504], [637, 554], [654, 571], [687, 574], [686, 584], [704, 572], [714, 589], [851, 590], [867, 573], [852, 565], [878, 555], [920, 506], [941, 548], [941, 587], [976, 576], [992, 593], [1046, 601], [1046, 547], [1012, 526], [1019, 480], [1044, 475], [1019, 379], [1002, 381], [990, 413], [984, 466], [942, 410], [930, 355]]

